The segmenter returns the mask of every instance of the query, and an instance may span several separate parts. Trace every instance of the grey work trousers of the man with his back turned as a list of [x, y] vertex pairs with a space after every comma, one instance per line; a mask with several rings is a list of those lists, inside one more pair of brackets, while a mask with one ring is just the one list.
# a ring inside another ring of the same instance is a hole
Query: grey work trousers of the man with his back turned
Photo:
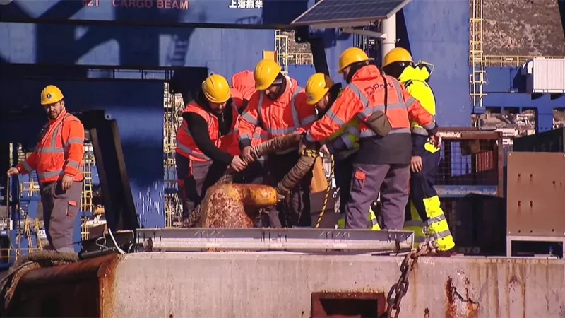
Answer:
[[402, 230], [408, 182], [410, 165], [354, 163], [350, 198], [345, 205], [345, 228], [367, 228], [369, 207], [380, 191], [383, 229]]

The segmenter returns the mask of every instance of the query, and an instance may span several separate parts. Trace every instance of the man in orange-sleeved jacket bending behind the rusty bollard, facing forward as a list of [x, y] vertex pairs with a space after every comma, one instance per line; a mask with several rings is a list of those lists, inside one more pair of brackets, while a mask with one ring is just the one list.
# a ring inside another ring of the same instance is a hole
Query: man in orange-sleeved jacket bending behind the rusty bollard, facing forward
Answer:
[[[280, 66], [268, 59], [258, 62], [254, 70], [255, 88], [245, 112], [239, 117], [239, 146], [242, 157], [251, 163], [251, 139], [257, 127], [267, 131], [267, 139], [292, 134], [300, 129], [307, 129], [314, 120], [314, 105], [306, 103], [307, 95], [292, 78], [280, 73]], [[268, 184], [275, 186], [285, 177], [287, 172], [297, 163], [299, 158], [296, 149], [281, 151], [267, 158]], [[292, 190], [292, 210], [283, 204], [277, 204], [269, 212], [268, 223], [273, 228], [311, 223], [309, 210], [309, 187], [311, 172]]]

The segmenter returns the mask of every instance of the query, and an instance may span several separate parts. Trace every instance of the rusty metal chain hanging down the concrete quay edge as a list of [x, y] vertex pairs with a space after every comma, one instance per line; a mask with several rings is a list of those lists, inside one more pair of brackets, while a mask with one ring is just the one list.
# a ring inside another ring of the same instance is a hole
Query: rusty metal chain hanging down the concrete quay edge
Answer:
[[420, 243], [417, 249], [412, 250], [406, 255], [406, 257], [404, 257], [402, 264], [400, 264], [400, 278], [398, 278], [396, 284], [394, 284], [388, 292], [388, 297], [386, 298], [386, 302], [388, 304], [386, 314], [388, 318], [398, 318], [398, 315], [400, 314], [400, 302], [404, 295], [408, 292], [408, 286], [410, 285], [408, 283], [408, 277], [410, 276], [412, 269], [414, 269], [414, 266], [418, 261], [418, 257], [435, 252], [436, 248], [437, 243], [432, 238], [429, 241]]

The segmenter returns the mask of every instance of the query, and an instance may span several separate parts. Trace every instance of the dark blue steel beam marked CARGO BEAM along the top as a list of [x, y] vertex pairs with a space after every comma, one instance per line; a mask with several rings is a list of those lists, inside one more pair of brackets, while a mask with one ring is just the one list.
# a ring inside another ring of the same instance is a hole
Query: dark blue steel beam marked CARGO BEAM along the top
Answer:
[[289, 25], [312, 4], [312, 0], [13, 0], [0, 5], [0, 20], [275, 28]]

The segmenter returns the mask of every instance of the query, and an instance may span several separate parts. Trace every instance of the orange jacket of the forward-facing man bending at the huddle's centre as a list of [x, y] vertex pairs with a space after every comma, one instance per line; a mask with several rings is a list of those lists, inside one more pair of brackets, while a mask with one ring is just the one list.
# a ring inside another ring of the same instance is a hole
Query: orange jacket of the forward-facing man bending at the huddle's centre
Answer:
[[304, 89], [291, 78], [287, 78], [285, 91], [278, 100], [268, 99], [263, 91], [254, 93], [237, 123], [240, 146], [251, 146], [256, 127], [266, 130], [267, 139], [308, 129], [316, 120], [316, 111], [306, 99]]

